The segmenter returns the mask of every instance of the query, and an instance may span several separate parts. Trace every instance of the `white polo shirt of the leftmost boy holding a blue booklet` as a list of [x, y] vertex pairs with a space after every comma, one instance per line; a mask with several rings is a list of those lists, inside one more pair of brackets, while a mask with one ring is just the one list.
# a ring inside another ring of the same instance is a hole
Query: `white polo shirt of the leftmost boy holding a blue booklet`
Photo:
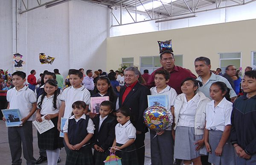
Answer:
[[[32, 103], [36, 102], [34, 92], [29, 90], [27, 86], [24, 86], [19, 91], [16, 90], [16, 87], [10, 89], [7, 91], [6, 99], [10, 103], [9, 109], [20, 109], [21, 118], [28, 116], [32, 108]], [[32, 121], [32, 116], [28, 121]]]

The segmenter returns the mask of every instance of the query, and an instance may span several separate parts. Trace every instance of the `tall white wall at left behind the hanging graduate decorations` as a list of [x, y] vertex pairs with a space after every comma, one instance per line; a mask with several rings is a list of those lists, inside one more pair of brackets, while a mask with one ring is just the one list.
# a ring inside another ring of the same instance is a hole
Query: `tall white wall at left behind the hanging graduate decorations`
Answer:
[[[37, 3], [28, 2], [29, 6]], [[1, 3], [5, 7], [0, 5], [0, 9], [10, 8], [9, 17], [2, 17], [2, 14], [0, 17], [1, 22], [10, 22], [10, 25], [6, 23], [5, 27], [1, 26], [0, 32], [2, 38], [5, 34], [2, 28], [9, 31], [6, 36], [9, 43], [5, 43], [6, 46], [0, 44], [0, 50], [10, 47], [9, 51], [0, 52], [1, 57], [8, 59], [8, 62], [0, 60], [0, 68], [6, 69], [12, 68], [12, 31], [15, 29], [12, 27], [12, 3], [3, 0]], [[17, 0], [17, 6], [24, 10], [20, 0]], [[47, 9], [42, 6], [17, 14], [17, 52], [24, 55], [24, 71], [29, 74], [30, 70], [35, 69], [39, 77], [39, 73], [53, 71], [54, 68], [58, 68], [64, 76], [70, 68], [105, 70], [108, 17], [107, 8], [81, 0], [71, 0]], [[38, 54], [41, 52], [56, 58], [52, 65], [39, 62]]]

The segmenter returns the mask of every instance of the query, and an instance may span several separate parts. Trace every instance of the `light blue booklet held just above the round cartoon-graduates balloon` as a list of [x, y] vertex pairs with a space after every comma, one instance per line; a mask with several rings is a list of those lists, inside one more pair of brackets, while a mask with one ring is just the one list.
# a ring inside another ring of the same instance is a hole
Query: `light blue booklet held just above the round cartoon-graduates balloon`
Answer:
[[166, 94], [158, 94], [158, 95], [148, 95], [148, 107], [151, 106], [161, 106], [164, 108], [168, 108], [168, 101], [167, 101]]

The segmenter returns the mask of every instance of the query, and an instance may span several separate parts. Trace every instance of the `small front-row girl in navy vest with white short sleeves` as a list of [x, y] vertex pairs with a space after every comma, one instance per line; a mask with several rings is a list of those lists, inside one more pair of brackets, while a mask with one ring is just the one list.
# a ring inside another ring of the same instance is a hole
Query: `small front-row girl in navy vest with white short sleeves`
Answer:
[[87, 113], [86, 103], [76, 101], [72, 104], [73, 113], [63, 127], [64, 140], [68, 147], [66, 165], [94, 165], [90, 139], [94, 125]]

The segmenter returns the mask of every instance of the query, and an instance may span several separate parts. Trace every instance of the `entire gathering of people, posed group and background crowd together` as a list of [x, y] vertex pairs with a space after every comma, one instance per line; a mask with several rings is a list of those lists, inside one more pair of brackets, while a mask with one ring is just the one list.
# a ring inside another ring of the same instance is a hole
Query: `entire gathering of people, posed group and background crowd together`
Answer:
[[[64, 147], [66, 165], [104, 165], [115, 151], [122, 165], [144, 165], [148, 128], [143, 111], [148, 108], [147, 96], [158, 94], [167, 95], [167, 111], [174, 122], [166, 130], [150, 130], [152, 165], [256, 164], [256, 71], [248, 66], [242, 73], [234, 65], [224, 73], [221, 68], [213, 71], [209, 58], [198, 57], [197, 77], [175, 65], [171, 51], [160, 54], [160, 63], [162, 67], [151, 74], [147, 69], [141, 74], [132, 66], [109, 73], [80, 68], [70, 69], [64, 78], [54, 69], [37, 80], [35, 70], [27, 77], [16, 71], [9, 91], [3, 90], [0, 77], [0, 109], [19, 108], [23, 121], [20, 127], [8, 128], [12, 164], [21, 163], [17, 153], [22, 144], [27, 164], [47, 160], [48, 165], [56, 165]], [[104, 96], [109, 101], [99, 105], [99, 114], [93, 113], [90, 98]], [[38, 133], [37, 160], [31, 140], [34, 113], [38, 122], [44, 116], [55, 125]], [[67, 120], [61, 130], [63, 117]], [[6, 121], [1, 114], [2, 118]], [[64, 132], [64, 139], [59, 132]]]

